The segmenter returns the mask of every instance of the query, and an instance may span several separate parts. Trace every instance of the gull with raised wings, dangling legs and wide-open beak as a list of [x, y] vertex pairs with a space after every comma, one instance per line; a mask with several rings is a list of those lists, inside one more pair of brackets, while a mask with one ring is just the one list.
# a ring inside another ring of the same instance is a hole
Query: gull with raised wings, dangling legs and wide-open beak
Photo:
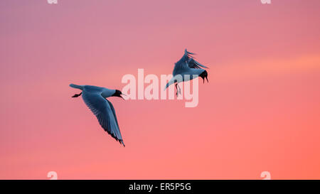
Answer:
[[[201, 65], [198, 61], [194, 60], [192, 55], [196, 55], [195, 53], [190, 53], [188, 50], [184, 50], [184, 55], [177, 63], [174, 65], [174, 71], [172, 74], [174, 75], [171, 80], [166, 84], [164, 90], [166, 90], [169, 85], [176, 84], [176, 96], [178, 97], [178, 93], [181, 94], [181, 89], [178, 86], [179, 82], [186, 82], [189, 80], [193, 80], [193, 78], [201, 77], [203, 79], [206, 78], [208, 81], [208, 72], [203, 68], [207, 68], [205, 65]], [[185, 75], [190, 75], [190, 79], [185, 77]], [[193, 77], [193, 75], [196, 75]], [[181, 80], [182, 78], [182, 80]]]

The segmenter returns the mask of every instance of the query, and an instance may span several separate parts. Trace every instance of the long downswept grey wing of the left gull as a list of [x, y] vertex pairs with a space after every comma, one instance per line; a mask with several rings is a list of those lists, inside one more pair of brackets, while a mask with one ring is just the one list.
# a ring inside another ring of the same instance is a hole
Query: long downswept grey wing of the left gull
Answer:
[[108, 134], [124, 146], [120, 133], [117, 116], [111, 102], [101, 96], [100, 92], [82, 92], [82, 99], [85, 104], [97, 117], [99, 124]]

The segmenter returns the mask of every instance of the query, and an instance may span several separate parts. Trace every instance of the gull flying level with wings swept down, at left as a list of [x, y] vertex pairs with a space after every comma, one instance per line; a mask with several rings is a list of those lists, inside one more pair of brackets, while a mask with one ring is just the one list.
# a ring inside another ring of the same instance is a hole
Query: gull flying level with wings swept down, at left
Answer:
[[70, 84], [70, 87], [82, 90], [80, 94], [75, 94], [73, 97], [80, 97], [80, 95], [82, 95], [83, 101], [85, 101], [85, 104], [92, 113], [95, 114], [102, 128], [124, 146], [114, 107], [111, 102], [106, 99], [107, 97], [121, 97], [124, 99], [121, 96], [124, 94], [119, 90], [110, 90], [105, 87], [92, 85]]

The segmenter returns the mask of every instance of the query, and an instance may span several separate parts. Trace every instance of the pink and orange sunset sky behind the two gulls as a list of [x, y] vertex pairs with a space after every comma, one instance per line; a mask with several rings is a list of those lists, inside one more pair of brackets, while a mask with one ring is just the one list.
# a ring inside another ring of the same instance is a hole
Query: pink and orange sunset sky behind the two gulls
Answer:
[[[320, 1], [0, 1], [0, 178], [320, 178]], [[199, 104], [112, 97], [123, 148], [77, 90], [210, 69]]]

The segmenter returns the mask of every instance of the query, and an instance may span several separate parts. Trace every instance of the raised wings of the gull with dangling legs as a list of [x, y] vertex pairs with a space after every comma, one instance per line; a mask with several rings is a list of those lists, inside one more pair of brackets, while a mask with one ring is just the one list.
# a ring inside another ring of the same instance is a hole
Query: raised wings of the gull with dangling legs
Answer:
[[201, 65], [196, 60], [194, 60], [192, 55], [195, 55], [195, 54], [190, 53], [187, 50], [184, 50], [184, 55], [174, 65], [174, 72], [172, 72], [172, 74], [178, 75], [188, 68], [196, 68], [196, 69], [207, 68], [206, 66]]

